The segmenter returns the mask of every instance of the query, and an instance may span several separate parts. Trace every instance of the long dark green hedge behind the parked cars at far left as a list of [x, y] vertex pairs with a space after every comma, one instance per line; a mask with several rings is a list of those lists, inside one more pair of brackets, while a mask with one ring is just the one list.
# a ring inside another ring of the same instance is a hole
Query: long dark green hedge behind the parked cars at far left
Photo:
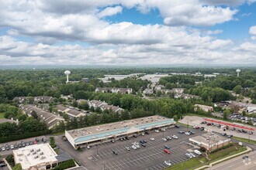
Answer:
[[0, 144], [8, 142], [8, 141], [18, 141], [20, 139], [32, 138], [32, 137], [41, 136], [41, 135], [44, 135], [44, 134], [50, 134], [50, 132], [51, 132], [50, 130], [34, 131], [34, 132], [25, 133], [25, 134], [15, 134], [15, 135], [8, 136], [8, 137], [1, 137], [0, 138]]

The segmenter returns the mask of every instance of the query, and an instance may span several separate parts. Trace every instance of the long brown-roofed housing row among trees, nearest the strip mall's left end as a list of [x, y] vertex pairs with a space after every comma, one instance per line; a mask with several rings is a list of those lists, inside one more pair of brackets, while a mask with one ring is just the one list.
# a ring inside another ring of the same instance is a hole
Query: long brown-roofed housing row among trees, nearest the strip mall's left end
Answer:
[[44, 121], [47, 124], [47, 128], [51, 129], [54, 127], [55, 124], [59, 124], [60, 121], [64, 121], [63, 117], [60, 117], [57, 114], [50, 113], [46, 110], [43, 110], [39, 107], [33, 106], [31, 104], [26, 104], [21, 106], [24, 113], [29, 114], [31, 116], [31, 113], [34, 111], [36, 112], [37, 117]]

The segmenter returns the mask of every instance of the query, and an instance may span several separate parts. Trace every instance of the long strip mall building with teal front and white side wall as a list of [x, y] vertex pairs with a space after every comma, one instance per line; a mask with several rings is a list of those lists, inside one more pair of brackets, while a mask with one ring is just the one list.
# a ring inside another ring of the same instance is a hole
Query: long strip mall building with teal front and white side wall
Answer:
[[173, 124], [175, 121], [167, 117], [141, 117], [129, 121], [65, 131], [65, 136], [74, 148], [82, 148], [119, 138], [130, 138], [145, 131], [169, 128]]

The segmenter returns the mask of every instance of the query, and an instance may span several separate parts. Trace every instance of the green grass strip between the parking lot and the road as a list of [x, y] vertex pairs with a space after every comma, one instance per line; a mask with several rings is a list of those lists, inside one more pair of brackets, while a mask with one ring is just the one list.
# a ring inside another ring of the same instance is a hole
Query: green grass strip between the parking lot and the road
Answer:
[[[237, 147], [237, 149], [236, 149]], [[235, 146], [231, 146], [230, 148], [225, 148], [221, 151], [216, 151], [213, 154], [210, 154], [209, 157], [211, 159], [210, 162], [216, 162], [217, 160], [220, 160], [222, 158], [226, 158], [230, 155], [235, 155], [241, 151], [245, 151], [246, 148], [245, 147], [241, 147], [240, 145], [235, 145]], [[166, 168], [166, 170], [185, 170], [185, 169], [195, 169], [195, 168], [199, 168], [203, 165], [208, 165], [208, 160], [203, 157], [203, 158], [191, 158], [186, 162], [181, 162], [178, 163], [176, 165], [173, 165], [169, 168]]]

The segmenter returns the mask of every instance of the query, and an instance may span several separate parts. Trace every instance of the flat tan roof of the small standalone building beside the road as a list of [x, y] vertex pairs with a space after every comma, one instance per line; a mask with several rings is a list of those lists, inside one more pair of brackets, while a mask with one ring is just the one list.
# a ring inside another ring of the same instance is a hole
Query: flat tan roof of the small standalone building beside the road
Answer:
[[[201, 134], [192, 138], [189, 138], [189, 140], [194, 140], [194, 141], [198, 141], [199, 143], [203, 143], [204, 145], [214, 145], [216, 143], [218, 143], [219, 141], [225, 141], [227, 140], [227, 138], [218, 135], [218, 134]], [[209, 139], [209, 141], [208, 141]]]

